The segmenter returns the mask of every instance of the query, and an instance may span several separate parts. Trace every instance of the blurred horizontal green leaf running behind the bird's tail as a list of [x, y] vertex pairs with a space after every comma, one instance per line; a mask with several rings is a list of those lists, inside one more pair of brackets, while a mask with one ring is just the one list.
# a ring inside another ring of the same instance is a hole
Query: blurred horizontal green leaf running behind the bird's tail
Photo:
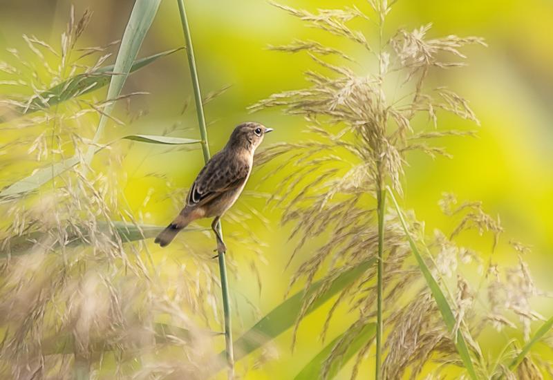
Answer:
[[[130, 243], [137, 240], [144, 240], [148, 238], [155, 238], [158, 234], [165, 229], [165, 226], [155, 226], [155, 225], [135, 225], [131, 222], [113, 222], [113, 231], [115, 234], [122, 240], [123, 243]], [[66, 247], [75, 247], [77, 245], [89, 245], [90, 239], [86, 233], [86, 228], [81, 227], [80, 230], [83, 232], [82, 236], [75, 234], [75, 236], [69, 236], [66, 244]], [[108, 233], [110, 231], [109, 226], [106, 223], [99, 225], [99, 230]], [[205, 231], [205, 228], [187, 228], [185, 231]], [[30, 234], [17, 236], [12, 238], [8, 245], [8, 248], [3, 249], [0, 253], [1, 257], [8, 256], [8, 253], [11, 256], [20, 256], [22, 254], [28, 253], [30, 249], [46, 236], [45, 232], [35, 231]], [[113, 236], [115, 238], [115, 236]], [[56, 246], [53, 248], [59, 247], [59, 243], [56, 243]]]

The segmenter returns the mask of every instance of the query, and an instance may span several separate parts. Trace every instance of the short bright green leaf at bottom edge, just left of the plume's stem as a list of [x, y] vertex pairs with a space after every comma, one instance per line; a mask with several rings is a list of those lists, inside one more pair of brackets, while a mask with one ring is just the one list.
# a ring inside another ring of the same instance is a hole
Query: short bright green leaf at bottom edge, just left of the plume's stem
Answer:
[[[326, 345], [321, 352], [319, 352], [305, 367], [303, 367], [301, 372], [294, 377], [294, 380], [321, 379], [324, 361], [326, 361], [326, 359], [330, 356], [330, 352], [332, 352], [335, 345], [348, 333], [349, 332], [344, 332], [344, 334], [341, 334], [336, 339], [328, 343], [328, 345]], [[341, 360], [335, 361], [332, 365], [330, 365], [328, 379], [335, 377], [338, 372], [340, 372], [341, 368], [344, 367], [344, 365], [346, 365], [346, 363], [348, 363], [348, 361], [353, 357], [353, 355], [361, 350], [361, 348], [366, 345], [369, 340], [374, 339], [375, 333], [375, 323], [368, 323], [364, 325], [359, 334], [357, 334], [350, 345], [348, 345], [348, 348], [346, 349], [346, 352], [344, 352], [344, 356], [341, 357]]]

